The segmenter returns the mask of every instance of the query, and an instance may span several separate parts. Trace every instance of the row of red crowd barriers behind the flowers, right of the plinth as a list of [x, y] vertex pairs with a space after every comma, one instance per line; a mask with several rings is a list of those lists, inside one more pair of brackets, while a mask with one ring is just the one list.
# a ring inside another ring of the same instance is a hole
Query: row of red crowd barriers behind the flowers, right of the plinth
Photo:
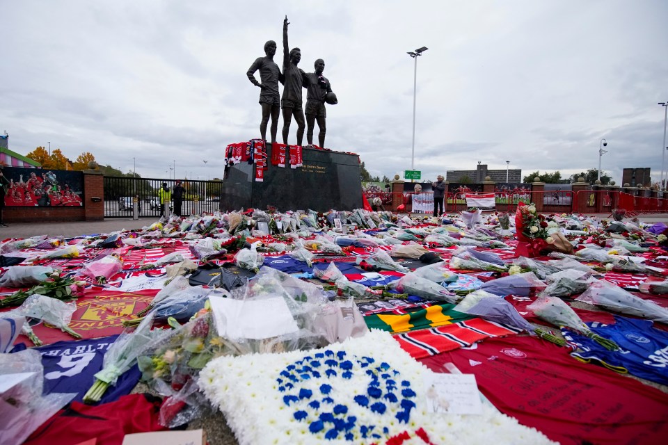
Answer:
[[[470, 192], [468, 192], [470, 193]], [[475, 192], [474, 192], [475, 193]], [[646, 191], [646, 193], [651, 193]], [[372, 192], [365, 193], [369, 204], [381, 198], [382, 209], [406, 213], [434, 212], [433, 192]], [[668, 213], [668, 197], [637, 196], [612, 190], [531, 191], [527, 193], [494, 192], [495, 206], [485, 211], [514, 212], [519, 202], [533, 202], [542, 213], [612, 213], [612, 209], [626, 209], [633, 216], [639, 213]], [[399, 206], [404, 206], [399, 208]], [[401, 209], [401, 210], [400, 210]], [[466, 211], [466, 193], [445, 193], [443, 211]]]

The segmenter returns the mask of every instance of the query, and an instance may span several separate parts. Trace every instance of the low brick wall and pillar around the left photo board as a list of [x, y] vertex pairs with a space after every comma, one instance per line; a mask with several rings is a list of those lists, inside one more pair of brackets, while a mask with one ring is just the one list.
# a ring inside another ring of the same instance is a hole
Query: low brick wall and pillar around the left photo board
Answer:
[[[7, 223], [47, 223], [104, 220], [104, 177], [100, 170], [84, 170], [84, 207], [5, 207]], [[100, 202], [93, 202], [99, 197]]]

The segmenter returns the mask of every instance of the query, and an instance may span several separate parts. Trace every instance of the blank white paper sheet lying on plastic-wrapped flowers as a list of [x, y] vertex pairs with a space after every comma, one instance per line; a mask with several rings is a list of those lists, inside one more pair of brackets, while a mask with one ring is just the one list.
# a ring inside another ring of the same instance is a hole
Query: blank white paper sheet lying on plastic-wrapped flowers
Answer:
[[283, 297], [257, 300], [212, 297], [209, 301], [216, 328], [228, 339], [269, 339], [299, 330]]

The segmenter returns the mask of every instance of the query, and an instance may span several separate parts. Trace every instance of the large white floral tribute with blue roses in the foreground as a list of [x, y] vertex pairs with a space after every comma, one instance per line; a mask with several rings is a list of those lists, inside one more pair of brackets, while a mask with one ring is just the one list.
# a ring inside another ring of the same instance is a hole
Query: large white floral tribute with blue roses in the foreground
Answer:
[[239, 444], [552, 444], [493, 407], [429, 412], [429, 369], [388, 332], [326, 348], [219, 357], [200, 388]]

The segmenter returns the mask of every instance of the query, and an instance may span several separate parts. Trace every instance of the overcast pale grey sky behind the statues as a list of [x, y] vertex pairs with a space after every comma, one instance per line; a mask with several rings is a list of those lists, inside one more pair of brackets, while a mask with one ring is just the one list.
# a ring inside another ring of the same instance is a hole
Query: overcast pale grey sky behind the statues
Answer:
[[[0, 131], [143, 177], [221, 177], [228, 143], [259, 137], [246, 78], [283, 17], [300, 67], [339, 99], [326, 146], [372, 175], [625, 167], [660, 177], [668, 1], [0, 0]], [[289, 143], [295, 143], [293, 123]], [[317, 130], [316, 130], [317, 131]], [[280, 135], [280, 124], [279, 124]], [[280, 136], [279, 136], [280, 137]], [[208, 161], [203, 163], [202, 161]], [[668, 164], [668, 160], [667, 160]]]

